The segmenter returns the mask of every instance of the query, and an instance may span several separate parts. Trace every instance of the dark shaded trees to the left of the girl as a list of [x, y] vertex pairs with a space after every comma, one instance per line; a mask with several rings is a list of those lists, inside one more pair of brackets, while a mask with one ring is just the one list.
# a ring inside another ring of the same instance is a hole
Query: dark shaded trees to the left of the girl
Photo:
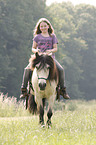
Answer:
[[31, 55], [33, 29], [44, 13], [45, 0], [0, 0], [1, 91], [17, 98]]

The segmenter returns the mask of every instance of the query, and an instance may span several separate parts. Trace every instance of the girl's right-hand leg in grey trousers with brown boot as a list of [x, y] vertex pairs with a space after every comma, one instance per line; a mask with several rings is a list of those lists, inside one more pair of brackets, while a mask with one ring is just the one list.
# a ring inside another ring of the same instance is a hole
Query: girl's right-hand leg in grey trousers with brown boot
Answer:
[[63, 98], [65, 99], [69, 99], [70, 97], [66, 93], [64, 69], [56, 59], [55, 59], [55, 63], [59, 72], [60, 95], [62, 95]]

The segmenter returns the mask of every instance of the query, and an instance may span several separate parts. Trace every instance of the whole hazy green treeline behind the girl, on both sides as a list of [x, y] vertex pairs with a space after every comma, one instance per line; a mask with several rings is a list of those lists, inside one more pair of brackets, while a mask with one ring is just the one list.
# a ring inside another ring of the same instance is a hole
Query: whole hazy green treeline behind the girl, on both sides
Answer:
[[0, 0], [0, 91], [19, 98], [30, 58], [33, 30], [48, 18], [58, 38], [56, 59], [66, 74], [71, 99], [96, 98], [96, 7], [46, 0]]

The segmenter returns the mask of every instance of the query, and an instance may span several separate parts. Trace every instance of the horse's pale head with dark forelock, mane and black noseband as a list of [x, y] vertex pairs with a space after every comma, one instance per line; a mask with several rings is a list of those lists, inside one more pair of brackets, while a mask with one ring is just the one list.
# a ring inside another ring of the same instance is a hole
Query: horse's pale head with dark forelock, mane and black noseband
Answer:
[[32, 68], [36, 69], [40, 90], [45, 90], [47, 80], [57, 79], [56, 65], [50, 55], [39, 55], [36, 53], [35, 58], [32, 60]]

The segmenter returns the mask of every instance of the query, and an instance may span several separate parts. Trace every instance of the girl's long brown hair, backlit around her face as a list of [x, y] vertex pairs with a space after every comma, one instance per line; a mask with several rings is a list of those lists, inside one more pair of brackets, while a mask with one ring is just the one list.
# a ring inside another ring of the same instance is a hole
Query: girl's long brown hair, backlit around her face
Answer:
[[54, 33], [54, 29], [53, 29], [51, 23], [46, 18], [39, 19], [39, 21], [37, 22], [37, 24], [35, 26], [35, 29], [34, 29], [34, 36], [36, 36], [37, 34], [40, 34], [41, 33], [40, 24], [42, 22], [47, 23], [47, 25], [49, 26], [48, 33], [51, 36], [51, 34]]

